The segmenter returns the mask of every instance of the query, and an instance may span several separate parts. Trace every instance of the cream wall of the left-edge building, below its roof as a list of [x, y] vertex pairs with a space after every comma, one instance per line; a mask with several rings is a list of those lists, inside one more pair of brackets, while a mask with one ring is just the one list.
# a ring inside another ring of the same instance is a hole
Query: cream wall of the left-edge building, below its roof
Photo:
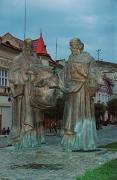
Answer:
[[11, 128], [12, 106], [8, 102], [8, 70], [13, 58], [19, 51], [0, 45], [0, 132], [3, 128]]

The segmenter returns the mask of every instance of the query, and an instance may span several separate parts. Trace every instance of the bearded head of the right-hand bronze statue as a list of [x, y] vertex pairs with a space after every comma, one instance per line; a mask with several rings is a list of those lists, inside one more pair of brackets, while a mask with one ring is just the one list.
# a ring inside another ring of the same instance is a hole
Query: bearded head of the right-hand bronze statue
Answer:
[[70, 44], [71, 52], [74, 55], [80, 54], [84, 49], [84, 44], [78, 38], [71, 39], [69, 44]]

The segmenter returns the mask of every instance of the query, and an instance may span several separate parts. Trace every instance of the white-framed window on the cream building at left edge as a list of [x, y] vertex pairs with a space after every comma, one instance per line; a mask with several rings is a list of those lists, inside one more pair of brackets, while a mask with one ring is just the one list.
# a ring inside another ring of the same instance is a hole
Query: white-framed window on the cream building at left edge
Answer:
[[8, 86], [8, 70], [0, 68], [0, 86]]

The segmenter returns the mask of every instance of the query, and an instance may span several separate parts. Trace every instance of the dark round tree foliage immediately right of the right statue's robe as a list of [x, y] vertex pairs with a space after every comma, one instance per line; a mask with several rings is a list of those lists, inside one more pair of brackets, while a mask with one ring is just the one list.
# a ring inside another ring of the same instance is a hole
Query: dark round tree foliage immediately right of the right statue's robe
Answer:
[[103, 103], [95, 103], [95, 117], [99, 118], [100, 115], [104, 115], [106, 106]]

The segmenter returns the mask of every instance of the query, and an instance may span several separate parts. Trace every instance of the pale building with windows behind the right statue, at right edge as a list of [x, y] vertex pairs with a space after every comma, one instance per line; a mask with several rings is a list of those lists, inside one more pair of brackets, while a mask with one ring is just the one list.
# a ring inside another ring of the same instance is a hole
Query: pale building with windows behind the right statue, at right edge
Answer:
[[96, 92], [95, 103], [106, 104], [109, 100], [117, 98], [117, 64], [97, 61], [99, 71], [102, 72], [103, 85]]

